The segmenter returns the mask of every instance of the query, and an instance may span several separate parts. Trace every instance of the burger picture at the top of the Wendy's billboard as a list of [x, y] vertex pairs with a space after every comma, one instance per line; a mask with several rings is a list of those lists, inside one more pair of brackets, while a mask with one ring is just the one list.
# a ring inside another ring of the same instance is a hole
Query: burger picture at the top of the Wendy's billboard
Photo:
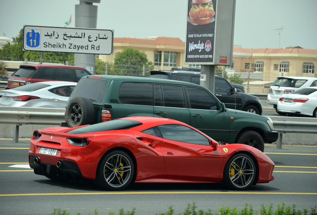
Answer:
[[192, 24], [208, 24], [215, 15], [211, 0], [192, 0], [189, 17]]

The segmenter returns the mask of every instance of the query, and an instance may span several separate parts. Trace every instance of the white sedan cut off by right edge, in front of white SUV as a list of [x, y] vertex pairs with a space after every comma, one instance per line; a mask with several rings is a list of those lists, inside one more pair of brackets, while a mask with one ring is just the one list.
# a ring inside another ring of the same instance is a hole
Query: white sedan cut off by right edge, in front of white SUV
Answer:
[[297, 113], [317, 117], [317, 87], [284, 94], [277, 104], [280, 114]]

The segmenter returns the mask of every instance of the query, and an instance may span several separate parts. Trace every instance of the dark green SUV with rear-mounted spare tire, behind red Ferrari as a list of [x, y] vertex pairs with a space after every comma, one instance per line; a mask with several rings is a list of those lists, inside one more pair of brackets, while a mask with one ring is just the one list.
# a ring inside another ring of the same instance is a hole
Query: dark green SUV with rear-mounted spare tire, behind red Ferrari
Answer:
[[269, 117], [227, 109], [202, 86], [133, 76], [83, 77], [67, 102], [65, 121], [74, 127], [138, 115], [176, 119], [217, 141], [261, 151], [278, 138]]

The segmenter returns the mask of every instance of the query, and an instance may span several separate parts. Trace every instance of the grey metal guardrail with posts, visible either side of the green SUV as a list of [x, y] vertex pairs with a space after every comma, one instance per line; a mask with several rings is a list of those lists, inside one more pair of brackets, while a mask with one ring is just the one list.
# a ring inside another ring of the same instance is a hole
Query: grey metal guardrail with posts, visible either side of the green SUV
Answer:
[[[274, 130], [279, 132], [277, 148], [282, 149], [283, 133], [317, 133], [316, 118], [272, 116]], [[297, 121], [296, 121], [297, 120]], [[12, 108], [0, 107], [0, 124], [15, 124], [13, 142], [18, 142], [19, 125], [59, 125], [65, 121], [64, 108]], [[304, 121], [304, 122], [303, 122]]]

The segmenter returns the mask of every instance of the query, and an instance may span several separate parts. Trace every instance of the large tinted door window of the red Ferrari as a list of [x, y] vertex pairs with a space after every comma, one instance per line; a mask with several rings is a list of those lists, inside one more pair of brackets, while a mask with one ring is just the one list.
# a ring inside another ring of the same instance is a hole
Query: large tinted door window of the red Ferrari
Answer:
[[187, 126], [166, 124], [158, 127], [164, 139], [197, 145], [210, 145], [210, 141], [205, 136]]

